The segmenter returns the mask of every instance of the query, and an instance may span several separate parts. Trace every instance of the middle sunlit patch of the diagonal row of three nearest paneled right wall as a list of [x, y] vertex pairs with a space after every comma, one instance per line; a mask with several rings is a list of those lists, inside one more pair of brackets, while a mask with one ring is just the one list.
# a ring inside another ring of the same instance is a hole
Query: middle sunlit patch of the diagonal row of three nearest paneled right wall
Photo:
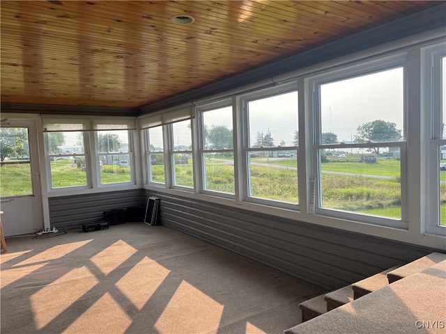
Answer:
[[170, 270], [144, 257], [121, 280], [118, 280], [116, 287], [138, 310], [141, 310], [169, 273]]

